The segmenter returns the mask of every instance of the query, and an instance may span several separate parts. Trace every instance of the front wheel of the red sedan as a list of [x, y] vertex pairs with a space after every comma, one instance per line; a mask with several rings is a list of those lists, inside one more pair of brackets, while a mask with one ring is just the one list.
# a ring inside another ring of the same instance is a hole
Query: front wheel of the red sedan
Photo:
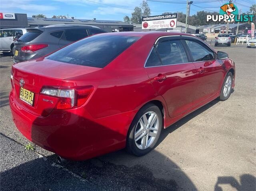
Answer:
[[228, 72], [223, 82], [222, 89], [220, 91], [219, 100], [225, 101], [229, 98], [232, 92], [232, 84], [233, 84], [233, 75], [231, 72]]

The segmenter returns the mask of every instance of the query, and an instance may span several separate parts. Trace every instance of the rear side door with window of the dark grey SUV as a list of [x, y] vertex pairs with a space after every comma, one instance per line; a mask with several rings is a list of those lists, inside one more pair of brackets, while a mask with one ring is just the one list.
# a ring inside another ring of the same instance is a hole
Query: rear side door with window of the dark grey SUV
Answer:
[[85, 28], [80, 29], [67, 29], [60, 38], [59, 47], [66, 46], [74, 41], [78, 41], [89, 35], [88, 30]]

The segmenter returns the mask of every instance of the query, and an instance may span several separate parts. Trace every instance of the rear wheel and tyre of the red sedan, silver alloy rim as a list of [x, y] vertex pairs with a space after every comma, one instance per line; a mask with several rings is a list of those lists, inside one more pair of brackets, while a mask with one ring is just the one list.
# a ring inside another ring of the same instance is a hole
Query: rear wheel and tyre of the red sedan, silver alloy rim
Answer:
[[[151, 120], [152, 123], [150, 121], [145, 122], [145, 117], [147, 120]], [[154, 120], [152, 121], [152, 119]], [[144, 126], [145, 124], [147, 126]], [[152, 127], [150, 128], [150, 126]], [[156, 146], [161, 130], [162, 112], [158, 106], [152, 103], [146, 104], [138, 111], [130, 125], [126, 139], [126, 150], [136, 156], [147, 154]]]

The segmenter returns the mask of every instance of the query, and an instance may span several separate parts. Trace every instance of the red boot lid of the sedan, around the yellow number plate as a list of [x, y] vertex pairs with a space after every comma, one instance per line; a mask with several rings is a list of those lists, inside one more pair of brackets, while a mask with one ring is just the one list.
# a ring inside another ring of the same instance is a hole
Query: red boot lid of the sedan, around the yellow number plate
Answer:
[[[64, 79], [92, 73], [101, 68], [72, 65], [48, 59], [37, 59], [14, 64], [12, 67], [14, 93], [17, 102], [38, 116], [47, 116], [55, 108], [58, 99], [54, 96], [40, 94], [42, 87], [59, 88]], [[33, 105], [20, 99], [21, 84], [23, 88], [34, 93]]]

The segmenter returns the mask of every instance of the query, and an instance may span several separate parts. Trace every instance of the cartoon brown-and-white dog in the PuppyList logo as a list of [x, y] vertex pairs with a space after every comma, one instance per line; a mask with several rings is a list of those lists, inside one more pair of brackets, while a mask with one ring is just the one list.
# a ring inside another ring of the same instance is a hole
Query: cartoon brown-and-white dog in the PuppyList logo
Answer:
[[224, 22], [234, 22], [234, 15], [238, 15], [238, 8], [233, 3], [224, 4], [220, 7], [220, 15], [228, 16]]

